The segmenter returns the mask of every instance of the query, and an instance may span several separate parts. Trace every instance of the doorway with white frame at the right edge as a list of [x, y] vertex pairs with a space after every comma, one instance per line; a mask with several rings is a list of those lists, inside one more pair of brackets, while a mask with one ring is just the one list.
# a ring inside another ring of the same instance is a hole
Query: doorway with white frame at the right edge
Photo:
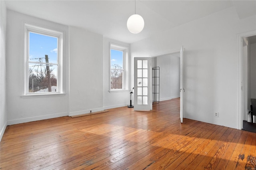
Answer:
[[[252, 122], [251, 114], [249, 114], [250, 105], [252, 105], [251, 99], [256, 99], [256, 31], [238, 35], [238, 44], [240, 63], [238, 129], [252, 131], [250, 128], [255, 126], [248, 126], [248, 124]], [[255, 123], [255, 117], [253, 120]], [[249, 129], [247, 129], [248, 127]]]

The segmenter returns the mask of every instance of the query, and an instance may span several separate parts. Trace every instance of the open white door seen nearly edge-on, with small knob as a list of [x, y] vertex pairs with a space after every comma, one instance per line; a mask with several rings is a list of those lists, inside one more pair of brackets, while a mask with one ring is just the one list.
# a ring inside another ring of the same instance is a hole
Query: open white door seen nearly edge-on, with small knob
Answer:
[[183, 123], [183, 66], [184, 66], [184, 47], [180, 49], [180, 122]]

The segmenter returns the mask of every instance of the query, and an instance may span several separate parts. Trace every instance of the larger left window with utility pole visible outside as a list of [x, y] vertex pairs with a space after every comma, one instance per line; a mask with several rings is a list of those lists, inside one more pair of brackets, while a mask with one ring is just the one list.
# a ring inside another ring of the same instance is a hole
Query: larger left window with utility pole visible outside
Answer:
[[24, 95], [63, 93], [62, 32], [25, 24]]

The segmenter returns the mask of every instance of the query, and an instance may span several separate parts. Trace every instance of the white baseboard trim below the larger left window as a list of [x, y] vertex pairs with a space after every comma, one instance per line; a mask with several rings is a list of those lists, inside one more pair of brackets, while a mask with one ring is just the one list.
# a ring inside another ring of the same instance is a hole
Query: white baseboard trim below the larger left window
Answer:
[[52, 115], [43, 115], [43, 116], [36, 116], [36, 117], [28, 117], [28, 118], [22, 118], [22, 119], [14, 119], [7, 121], [7, 125], [15, 125], [19, 123], [27, 123], [27, 122], [33, 122], [33, 121], [41, 121], [44, 119], [52, 119], [56, 117], [63, 117], [63, 116], [68, 116], [68, 112], [64, 113], [55, 113]]

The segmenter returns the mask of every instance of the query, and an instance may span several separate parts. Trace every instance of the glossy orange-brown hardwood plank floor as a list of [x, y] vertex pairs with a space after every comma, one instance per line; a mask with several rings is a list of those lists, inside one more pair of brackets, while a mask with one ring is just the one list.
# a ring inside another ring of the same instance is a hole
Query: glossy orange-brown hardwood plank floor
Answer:
[[153, 111], [121, 107], [11, 125], [1, 170], [242, 170], [256, 168], [253, 132], [179, 118], [179, 98]]

